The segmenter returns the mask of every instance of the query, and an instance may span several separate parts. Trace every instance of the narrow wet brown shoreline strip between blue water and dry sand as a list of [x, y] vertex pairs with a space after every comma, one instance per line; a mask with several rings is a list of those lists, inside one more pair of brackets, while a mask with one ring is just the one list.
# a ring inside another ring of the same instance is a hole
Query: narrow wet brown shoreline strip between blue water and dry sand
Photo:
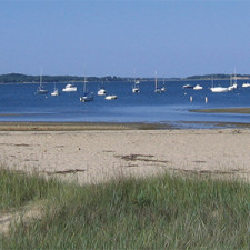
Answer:
[[[187, 124], [187, 127], [183, 127], [183, 124]], [[197, 128], [199, 124], [201, 127]], [[174, 124], [170, 124], [143, 122], [0, 121], [0, 131], [217, 130], [236, 128], [249, 129], [250, 122], [177, 121]]]

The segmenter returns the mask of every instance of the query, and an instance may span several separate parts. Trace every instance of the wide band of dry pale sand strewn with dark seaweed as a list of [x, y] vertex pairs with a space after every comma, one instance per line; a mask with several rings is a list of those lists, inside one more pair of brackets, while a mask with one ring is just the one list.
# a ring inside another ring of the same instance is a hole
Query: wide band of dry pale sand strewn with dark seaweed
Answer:
[[250, 180], [248, 129], [130, 129], [0, 131], [0, 162], [79, 183], [166, 170]]

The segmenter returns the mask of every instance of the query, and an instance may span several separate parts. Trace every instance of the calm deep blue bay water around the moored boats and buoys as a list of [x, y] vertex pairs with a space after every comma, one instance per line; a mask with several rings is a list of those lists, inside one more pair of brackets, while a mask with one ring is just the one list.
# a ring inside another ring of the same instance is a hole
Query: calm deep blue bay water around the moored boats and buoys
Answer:
[[[201, 84], [203, 90], [182, 89], [183, 84]], [[228, 87], [229, 81], [214, 81], [214, 86]], [[149, 122], [180, 123], [180, 121], [250, 122], [248, 114], [194, 113], [190, 109], [249, 107], [250, 88], [241, 88], [226, 93], [212, 93], [210, 81], [166, 82], [164, 93], [154, 93], [154, 82], [141, 82], [140, 93], [132, 93], [132, 83], [107, 82], [109, 94], [118, 99], [108, 101], [97, 96], [98, 82], [89, 82], [94, 92], [94, 101], [82, 103], [82, 83], [77, 83], [77, 92], [62, 92], [66, 83], [58, 83], [59, 97], [51, 97], [53, 83], [44, 83], [46, 96], [34, 94], [38, 84], [0, 84], [0, 121], [89, 121], [89, 122]], [[193, 101], [190, 102], [190, 96]], [[204, 98], [208, 103], [204, 103]], [[7, 116], [8, 114], [8, 116]]]

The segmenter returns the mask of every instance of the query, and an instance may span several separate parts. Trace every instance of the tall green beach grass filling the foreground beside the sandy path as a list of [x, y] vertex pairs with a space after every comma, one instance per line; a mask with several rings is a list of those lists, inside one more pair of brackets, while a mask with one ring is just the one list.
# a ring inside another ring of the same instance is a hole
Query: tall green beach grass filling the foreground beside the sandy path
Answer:
[[[78, 186], [0, 170], [1, 211], [46, 200], [0, 249], [249, 249], [250, 184], [163, 174]], [[2, 174], [3, 173], [3, 174]], [[21, 191], [21, 190], [22, 191]], [[8, 201], [8, 197], [10, 201]]]

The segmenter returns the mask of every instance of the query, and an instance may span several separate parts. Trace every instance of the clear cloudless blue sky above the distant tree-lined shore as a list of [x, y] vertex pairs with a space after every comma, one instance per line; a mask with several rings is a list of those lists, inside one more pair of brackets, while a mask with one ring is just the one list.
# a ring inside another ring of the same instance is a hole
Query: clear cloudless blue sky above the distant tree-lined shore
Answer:
[[250, 1], [1, 1], [0, 74], [250, 73]]

